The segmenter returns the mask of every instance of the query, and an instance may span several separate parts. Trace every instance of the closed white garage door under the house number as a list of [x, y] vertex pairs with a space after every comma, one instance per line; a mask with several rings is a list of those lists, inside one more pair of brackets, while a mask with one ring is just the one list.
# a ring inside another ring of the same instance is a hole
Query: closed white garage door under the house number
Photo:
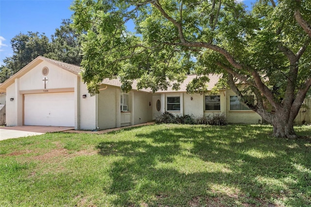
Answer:
[[25, 94], [24, 124], [74, 126], [74, 93]]

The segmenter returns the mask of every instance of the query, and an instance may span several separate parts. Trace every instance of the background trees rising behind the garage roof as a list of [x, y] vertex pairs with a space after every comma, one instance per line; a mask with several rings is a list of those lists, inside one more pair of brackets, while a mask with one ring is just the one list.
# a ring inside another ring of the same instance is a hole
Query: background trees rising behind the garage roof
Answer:
[[28, 32], [11, 39], [13, 56], [6, 57], [5, 65], [0, 67], [0, 83], [25, 67], [37, 56], [45, 56], [69, 64], [80, 65], [82, 59], [82, 33], [70, 26], [71, 20], [64, 19], [60, 28], [55, 30], [51, 41], [44, 33]]

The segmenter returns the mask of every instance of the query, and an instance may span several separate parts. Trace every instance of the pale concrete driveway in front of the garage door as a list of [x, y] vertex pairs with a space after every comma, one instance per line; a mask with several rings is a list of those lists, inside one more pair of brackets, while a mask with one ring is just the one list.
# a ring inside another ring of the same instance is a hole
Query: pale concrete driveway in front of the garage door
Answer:
[[0, 140], [9, 138], [29, 137], [42, 135], [47, 132], [63, 132], [73, 130], [74, 127], [64, 126], [7, 126], [0, 127]]

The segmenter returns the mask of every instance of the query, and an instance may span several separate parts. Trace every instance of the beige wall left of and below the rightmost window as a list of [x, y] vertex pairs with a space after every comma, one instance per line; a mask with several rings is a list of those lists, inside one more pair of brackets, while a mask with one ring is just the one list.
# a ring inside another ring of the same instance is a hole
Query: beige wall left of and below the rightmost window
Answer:
[[232, 90], [226, 91], [226, 118], [229, 123], [259, 123], [261, 117], [252, 110], [230, 110], [230, 96], [236, 94]]

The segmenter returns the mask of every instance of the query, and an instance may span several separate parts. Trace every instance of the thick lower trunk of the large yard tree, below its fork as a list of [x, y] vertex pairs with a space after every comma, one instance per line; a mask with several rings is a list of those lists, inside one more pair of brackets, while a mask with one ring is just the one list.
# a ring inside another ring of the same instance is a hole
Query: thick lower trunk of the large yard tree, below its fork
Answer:
[[288, 120], [288, 116], [284, 112], [278, 112], [275, 115], [275, 118], [271, 121], [274, 136], [278, 138], [297, 138], [294, 132], [294, 120]]

